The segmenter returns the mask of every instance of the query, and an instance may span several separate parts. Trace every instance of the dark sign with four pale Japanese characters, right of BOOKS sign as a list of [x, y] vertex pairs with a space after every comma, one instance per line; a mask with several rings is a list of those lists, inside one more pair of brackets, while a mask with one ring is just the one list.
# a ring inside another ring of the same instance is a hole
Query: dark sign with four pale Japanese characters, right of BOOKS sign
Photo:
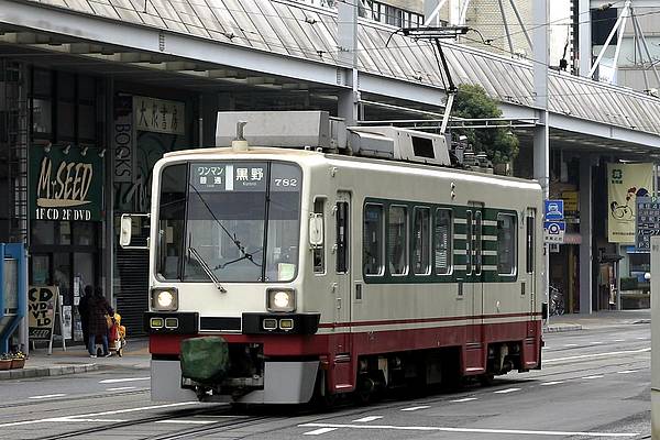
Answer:
[[133, 97], [135, 129], [167, 134], [185, 134], [186, 105], [165, 99]]

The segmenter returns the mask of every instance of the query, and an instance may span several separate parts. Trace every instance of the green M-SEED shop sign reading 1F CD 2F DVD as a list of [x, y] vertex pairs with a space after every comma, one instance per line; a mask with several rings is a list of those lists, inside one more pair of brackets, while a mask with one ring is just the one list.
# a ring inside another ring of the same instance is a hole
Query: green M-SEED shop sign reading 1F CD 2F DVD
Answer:
[[[91, 148], [90, 148], [91, 150]], [[100, 221], [103, 160], [77, 146], [30, 153], [30, 211], [35, 220]]]

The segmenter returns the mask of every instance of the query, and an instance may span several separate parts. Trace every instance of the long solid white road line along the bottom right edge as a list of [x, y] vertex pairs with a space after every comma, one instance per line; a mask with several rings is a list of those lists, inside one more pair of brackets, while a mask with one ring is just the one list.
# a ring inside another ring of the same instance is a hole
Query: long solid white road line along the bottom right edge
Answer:
[[[639, 432], [570, 432], [570, 431], [535, 431], [526, 429], [484, 429], [484, 428], [450, 428], [450, 427], [426, 427], [426, 426], [393, 426], [393, 425], [340, 425], [340, 424], [304, 424], [300, 428], [353, 428], [353, 429], [388, 429], [393, 431], [441, 431], [441, 432], [474, 432], [474, 433], [497, 433], [497, 435], [519, 435], [519, 436], [584, 436], [584, 437], [635, 437]], [[317, 431], [320, 431], [317, 430]], [[316, 432], [316, 431], [311, 431]], [[328, 431], [326, 431], [328, 432]], [[308, 432], [306, 432], [308, 433]], [[322, 433], [322, 432], [321, 432]]]

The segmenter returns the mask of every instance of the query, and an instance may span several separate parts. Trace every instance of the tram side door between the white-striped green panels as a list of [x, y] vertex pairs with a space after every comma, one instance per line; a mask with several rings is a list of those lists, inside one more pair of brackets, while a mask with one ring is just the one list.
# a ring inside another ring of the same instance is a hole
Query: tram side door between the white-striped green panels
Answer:
[[[468, 328], [466, 342], [468, 352], [471, 349], [474, 351], [474, 362], [470, 362], [473, 366], [481, 365], [481, 342], [483, 327], [483, 257], [482, 257], [482, 223], [483, 223], [484, 204], [471, 201], [466, 212], [466, 229], [465, 229], [465, 250], [466, 250], [466, 273], [465, 280], [468, 284], [468, 308], [471, 316], [470, 327]], [[479, 362], [477, 362], [479, 361]], [[468, 365], [470, 367], [470, 365]]]

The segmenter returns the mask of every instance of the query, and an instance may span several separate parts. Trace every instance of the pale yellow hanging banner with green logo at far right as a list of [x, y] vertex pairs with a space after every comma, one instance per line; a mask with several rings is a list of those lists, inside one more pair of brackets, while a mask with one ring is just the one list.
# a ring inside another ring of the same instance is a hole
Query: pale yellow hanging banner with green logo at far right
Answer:
[[607, 164], [607, 237], [610, 243], [635, 243], [637, 197], [653, 186], [652, 164]]

